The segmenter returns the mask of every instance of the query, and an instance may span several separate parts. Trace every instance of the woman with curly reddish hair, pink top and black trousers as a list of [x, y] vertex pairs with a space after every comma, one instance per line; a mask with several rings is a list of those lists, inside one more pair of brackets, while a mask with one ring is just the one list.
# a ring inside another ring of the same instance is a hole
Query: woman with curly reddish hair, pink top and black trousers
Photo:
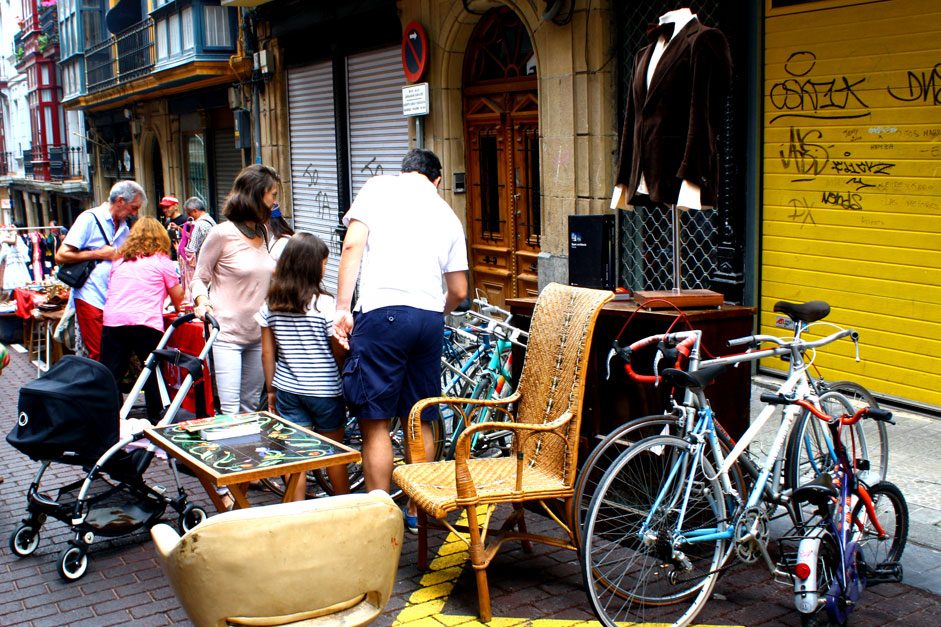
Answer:
[[[141, 363], [157, 348], [163, 336], [163, 304], [167, 296], [179, 310], [183, 287], [170, 261], [167, 230], [151, 217], [139, 219], [111, 265], [108, 297], [102, 314], [101, 363], [120, 383], [127, 374], [131, 352]], [[151, 375], [144, 386], [147, 418], [160, 420], [157, 378]]]

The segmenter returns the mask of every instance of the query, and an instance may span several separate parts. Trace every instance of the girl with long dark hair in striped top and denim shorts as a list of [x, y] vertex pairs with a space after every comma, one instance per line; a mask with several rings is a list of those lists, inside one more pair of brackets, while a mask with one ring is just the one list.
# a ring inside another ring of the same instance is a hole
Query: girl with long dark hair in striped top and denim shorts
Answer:
[[[329, 249], [316, 235], [294, 235], [274, 271], [261, 325], [268, 409], [335, 442], [343, 441], [346, 407], [340, 382], [344, 351], [333, 338], [336, 301], [322, 281]], [[345, 466], [327, 469], [336, 494], [350, 490]], [[295, 500], [306, 494], [298, 483]]]

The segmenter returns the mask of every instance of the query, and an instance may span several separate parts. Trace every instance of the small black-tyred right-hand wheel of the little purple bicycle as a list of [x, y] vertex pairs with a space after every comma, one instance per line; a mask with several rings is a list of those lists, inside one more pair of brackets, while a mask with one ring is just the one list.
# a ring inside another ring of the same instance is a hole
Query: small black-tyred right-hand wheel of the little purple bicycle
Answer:
[[869, 488], [876, 518], [886, 532], [880, 538], [862, 500], [853, 507], [854, 540], [859, 543], [866, 565], [876, 568], [886, 562], [898, 562], [908, 541], [908, 504], [894, 483], [882, 481]]

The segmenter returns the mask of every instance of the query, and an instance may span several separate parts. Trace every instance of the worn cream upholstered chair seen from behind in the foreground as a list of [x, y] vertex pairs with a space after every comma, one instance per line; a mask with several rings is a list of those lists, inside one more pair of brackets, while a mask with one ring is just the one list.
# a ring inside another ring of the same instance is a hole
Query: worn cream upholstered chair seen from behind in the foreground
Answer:
[[196, 627], [375, 619], [392, 594], [402, 512], [385, 492], [240, 509], [150, 533]]

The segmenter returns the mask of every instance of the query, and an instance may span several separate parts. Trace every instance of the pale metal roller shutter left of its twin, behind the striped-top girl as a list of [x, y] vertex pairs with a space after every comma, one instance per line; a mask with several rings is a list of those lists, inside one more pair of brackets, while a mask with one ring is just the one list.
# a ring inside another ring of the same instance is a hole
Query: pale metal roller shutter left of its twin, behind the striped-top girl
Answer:
[[335, 232], [337, 156], [329, 61], [288, 70], [288, 125], [294, 229], [314, 233], [330, 247], [324, 284], [336, 294], [341, 242]]

